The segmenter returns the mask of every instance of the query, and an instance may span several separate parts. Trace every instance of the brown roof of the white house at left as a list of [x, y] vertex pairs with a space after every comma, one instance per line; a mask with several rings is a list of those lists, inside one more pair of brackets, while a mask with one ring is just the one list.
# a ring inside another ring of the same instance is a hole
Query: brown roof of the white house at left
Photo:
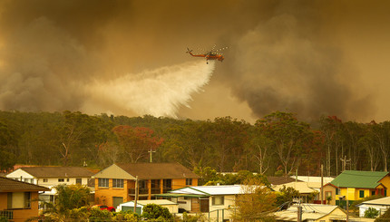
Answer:
[[20, 168], [35, 178], [90, 178], [93, 172], [81, 167]]

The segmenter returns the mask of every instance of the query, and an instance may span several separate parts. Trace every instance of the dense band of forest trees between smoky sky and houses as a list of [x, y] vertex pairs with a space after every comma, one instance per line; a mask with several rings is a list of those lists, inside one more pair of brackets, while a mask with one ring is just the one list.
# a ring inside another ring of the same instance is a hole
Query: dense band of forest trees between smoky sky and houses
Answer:
[[[313, 126], [316, 126], [314, 128]], [[335, 116], [308, 124], [276, 111], [250, 124], [81, 112], [0, 111], [0, 168], [15, 163], [104, 168], [114, 162], [179, 162], [196, 170], [326, 176], [343, 169], [388, 170], [390, 121]]]

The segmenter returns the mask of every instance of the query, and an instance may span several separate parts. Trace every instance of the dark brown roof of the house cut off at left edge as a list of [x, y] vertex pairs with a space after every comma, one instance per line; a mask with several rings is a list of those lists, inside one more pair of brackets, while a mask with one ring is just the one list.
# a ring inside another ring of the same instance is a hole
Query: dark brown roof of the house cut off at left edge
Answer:
[[50, 190], [49, 188], [44, 188], [31, 183], [0, 177], [0, 192], [49, 191], [49, 190]]

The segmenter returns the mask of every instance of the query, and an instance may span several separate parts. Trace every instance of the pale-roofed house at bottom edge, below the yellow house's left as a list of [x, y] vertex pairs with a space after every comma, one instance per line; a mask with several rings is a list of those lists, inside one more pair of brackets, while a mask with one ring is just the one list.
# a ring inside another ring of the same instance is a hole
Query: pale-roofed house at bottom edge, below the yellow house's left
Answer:
[[[297, 221], [297, 205], [274, 213], [276, 221]], [[301, 204], [301, 221], [307, 222], [336, 222], [346, 221], [346, 211], [331, 205]], [[374, 221], [348, 216], [349, 221]]]

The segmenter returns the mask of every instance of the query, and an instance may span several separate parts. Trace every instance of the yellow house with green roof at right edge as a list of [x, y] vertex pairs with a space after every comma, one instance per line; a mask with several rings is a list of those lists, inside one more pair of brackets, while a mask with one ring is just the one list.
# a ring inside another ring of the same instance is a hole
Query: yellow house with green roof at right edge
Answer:
[[[330, 186], [330, 187], [328, 187]], [[388, 172], [380, 171], [358, 171], [358, 170], [345, 170], [339, 174], [336, 179], [333, 179], [330, 184], [327, 184], [327, 190], [325, 192], [333, 192], [335, 194], [328, 193], [332, 198], [335, 197], [336, 205], [340, 202], [345, 206], [346, 199], [351, 204], [354, 200], [371, 197], [374, 195], [387, 195], [387, 188], [390, 188], [390, 176]]]

